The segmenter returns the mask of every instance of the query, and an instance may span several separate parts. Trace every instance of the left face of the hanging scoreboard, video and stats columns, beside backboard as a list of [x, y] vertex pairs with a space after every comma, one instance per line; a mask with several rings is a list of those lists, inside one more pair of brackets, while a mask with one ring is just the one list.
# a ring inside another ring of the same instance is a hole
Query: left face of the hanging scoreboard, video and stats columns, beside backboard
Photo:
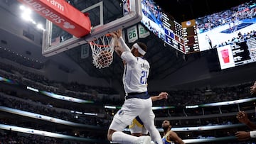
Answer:
[[186, 53], [181, 24], [164, 13], [153, 0], [142, 0], [142, 23], [166, 44]]

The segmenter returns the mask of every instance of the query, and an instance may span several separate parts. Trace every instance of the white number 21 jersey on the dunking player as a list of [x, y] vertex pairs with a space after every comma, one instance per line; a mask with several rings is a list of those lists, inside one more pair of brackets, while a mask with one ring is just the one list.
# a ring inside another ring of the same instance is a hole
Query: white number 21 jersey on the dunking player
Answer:
[[129, 51], [122, 52], [121, 58], [126, 62], [123, 75], [125, 93], [147, 92], [149, 62], [142, 57], [134, 57]]

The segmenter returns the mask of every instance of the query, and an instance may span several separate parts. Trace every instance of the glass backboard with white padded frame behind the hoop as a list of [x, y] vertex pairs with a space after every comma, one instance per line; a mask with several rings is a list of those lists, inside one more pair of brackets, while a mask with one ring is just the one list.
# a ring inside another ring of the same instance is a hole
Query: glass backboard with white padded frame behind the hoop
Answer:
[[95, 38], [100, 38], [119, 28], [127, 28], [142, 20], [141, 1], [70, 0], [68, 3], [82, 13], [89, 14], [92, 26], [91, 32], [88, 35], [77, 38], [47, 20], [42, 46], [42, 54], [46, 57], [83, 45]]

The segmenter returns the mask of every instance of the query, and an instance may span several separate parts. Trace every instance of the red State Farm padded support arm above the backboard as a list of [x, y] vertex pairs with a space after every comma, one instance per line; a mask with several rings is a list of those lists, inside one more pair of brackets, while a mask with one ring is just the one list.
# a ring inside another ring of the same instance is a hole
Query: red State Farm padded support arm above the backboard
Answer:
[[63, 0], [18, 0], [36, 11], [64, 31], [80, 38], [90, 33], [91, 22], [87, 13], [82, 13]]

